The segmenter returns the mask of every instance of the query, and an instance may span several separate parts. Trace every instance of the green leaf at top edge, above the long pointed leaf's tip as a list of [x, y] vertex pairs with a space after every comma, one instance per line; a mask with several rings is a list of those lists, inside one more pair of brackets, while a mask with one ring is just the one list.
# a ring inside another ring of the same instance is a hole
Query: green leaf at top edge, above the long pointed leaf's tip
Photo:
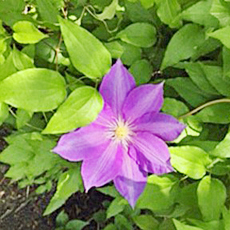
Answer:
[[53, 5], [52, 0], [36, 0], [38, 11], [46, 22], [57, 23], [58, 9]]

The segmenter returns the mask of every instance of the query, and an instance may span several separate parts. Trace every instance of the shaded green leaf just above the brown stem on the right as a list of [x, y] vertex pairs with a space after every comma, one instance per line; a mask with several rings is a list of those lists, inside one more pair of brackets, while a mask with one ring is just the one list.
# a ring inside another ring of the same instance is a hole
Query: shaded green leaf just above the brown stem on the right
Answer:
[[193, 107], [207, 102], [212, 96], [200, 90], [189, 78], [177, 77], [166, 80], [166, 84], [173, 87], [178, 94]]

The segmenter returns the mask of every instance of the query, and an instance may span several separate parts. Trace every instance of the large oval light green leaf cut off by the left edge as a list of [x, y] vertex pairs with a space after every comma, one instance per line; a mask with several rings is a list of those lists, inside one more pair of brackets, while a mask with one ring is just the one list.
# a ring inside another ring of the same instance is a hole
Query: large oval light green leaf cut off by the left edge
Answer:
[[27, 111], [50, 111], [65, 98], [64, 78], [48, 69], [19, 71], [0, 83], [0, 101]]

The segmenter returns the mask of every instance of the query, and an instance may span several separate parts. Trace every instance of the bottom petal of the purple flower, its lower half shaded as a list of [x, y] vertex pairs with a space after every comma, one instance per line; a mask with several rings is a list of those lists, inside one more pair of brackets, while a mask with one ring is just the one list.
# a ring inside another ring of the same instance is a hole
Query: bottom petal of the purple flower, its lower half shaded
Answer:
[[133, 208], [145, 188], [146, 181], [147, 173], [141, 171], [137, 163], [124, 153], [123, 164], [118, 176], [114, 179], [114, 184]]

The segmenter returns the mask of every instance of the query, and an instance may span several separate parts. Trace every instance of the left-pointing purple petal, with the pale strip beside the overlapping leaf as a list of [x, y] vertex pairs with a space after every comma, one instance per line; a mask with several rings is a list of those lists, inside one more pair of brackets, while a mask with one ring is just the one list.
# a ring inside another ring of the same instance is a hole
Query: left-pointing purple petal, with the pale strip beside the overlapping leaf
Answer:
[[69, 161], [80, 161], [99, 156], [109, 144], [106, 138], [106, 126], [113, 117], [110, 107], [105, 104], [96, 121], [62, 135], [53, 152]]

